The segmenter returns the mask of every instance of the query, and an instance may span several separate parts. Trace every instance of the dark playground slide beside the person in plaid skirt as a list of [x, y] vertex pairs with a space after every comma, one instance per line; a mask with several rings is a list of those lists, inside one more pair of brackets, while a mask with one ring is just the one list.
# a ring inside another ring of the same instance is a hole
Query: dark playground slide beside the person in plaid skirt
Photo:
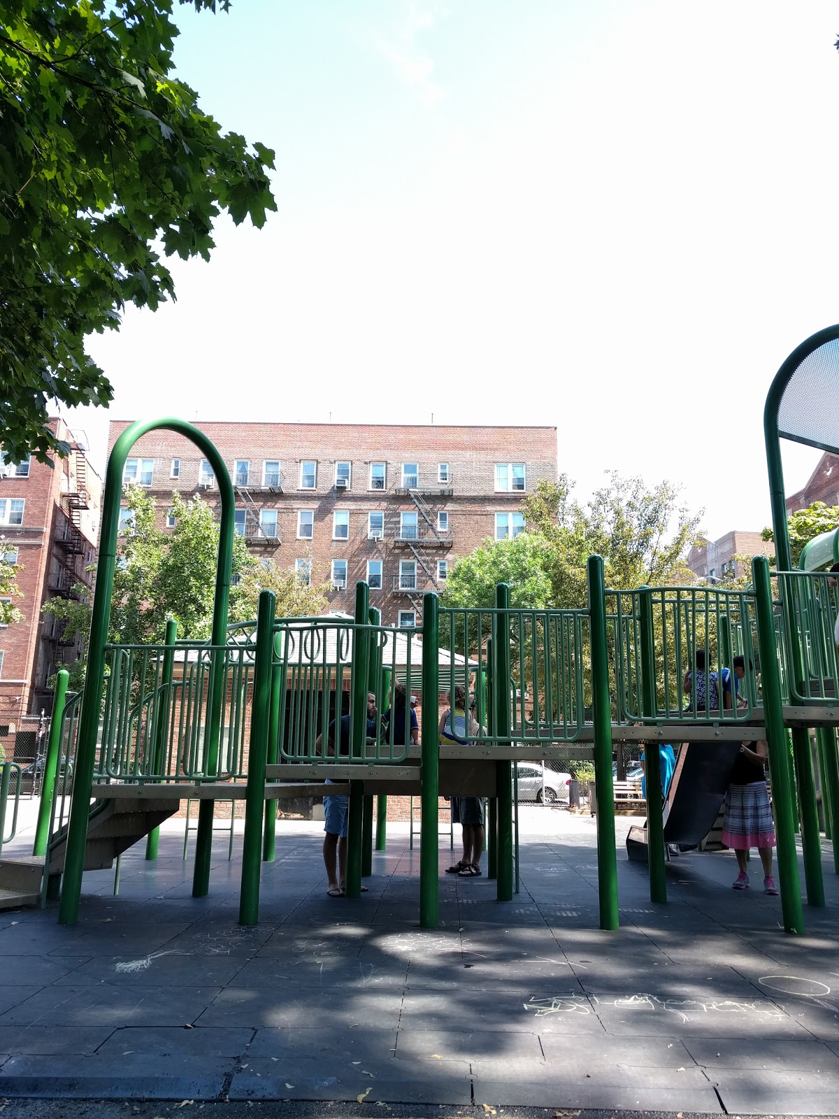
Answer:
[[[695, 846], [714, 827], [739, 742], [685, 743], [664, 802], [664, 843]], [[626, 836], [630, 862], [647, 862], [647, 827]]]

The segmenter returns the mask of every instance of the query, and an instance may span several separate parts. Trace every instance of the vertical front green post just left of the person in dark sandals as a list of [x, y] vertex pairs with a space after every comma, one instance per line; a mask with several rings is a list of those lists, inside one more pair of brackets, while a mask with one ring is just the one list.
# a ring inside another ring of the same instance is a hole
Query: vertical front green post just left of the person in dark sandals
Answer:
[[433, 591], [423, 595], [423, 726], [420, 787], [420, 928], [440, 919], [440, 610]]

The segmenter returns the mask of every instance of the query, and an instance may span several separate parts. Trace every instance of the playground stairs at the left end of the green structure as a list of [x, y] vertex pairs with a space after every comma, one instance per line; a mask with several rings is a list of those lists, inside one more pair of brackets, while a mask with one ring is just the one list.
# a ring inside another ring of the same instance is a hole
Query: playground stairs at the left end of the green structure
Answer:
[[[100, 801], [91, 810], [85, 845], [85, 871], [104, 871], [163, 820], [178, 811], [179, 800], [133, 800], [125, 797]], [[41, 876], [60, 874], [67, 848], [66, 826], [49, 846], [48, 857], [18, 855], [0, 858], [0, 910], [37, 905]]]

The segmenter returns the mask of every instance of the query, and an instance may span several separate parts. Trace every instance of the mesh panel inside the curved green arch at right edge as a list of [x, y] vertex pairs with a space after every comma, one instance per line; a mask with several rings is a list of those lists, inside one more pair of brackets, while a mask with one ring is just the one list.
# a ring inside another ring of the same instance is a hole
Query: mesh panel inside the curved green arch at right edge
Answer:
[[839, 451], [839, 339], [814, 349], [790, 377], [777, 430], [785, 439]]

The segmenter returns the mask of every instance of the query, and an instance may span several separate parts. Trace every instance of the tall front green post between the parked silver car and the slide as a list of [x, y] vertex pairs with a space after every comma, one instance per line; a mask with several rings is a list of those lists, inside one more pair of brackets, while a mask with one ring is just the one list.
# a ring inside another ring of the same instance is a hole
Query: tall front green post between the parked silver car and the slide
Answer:
[[614, 840], [614, 786], [612, 783], [612, 704], [609, 695], [606, 587], [601, 556], [588, 556], [588, 617], [592, 641], [592, 722], [594, 781], [597, 790], [597, 885], [600, 927], [616, 929], [618, 854]]

